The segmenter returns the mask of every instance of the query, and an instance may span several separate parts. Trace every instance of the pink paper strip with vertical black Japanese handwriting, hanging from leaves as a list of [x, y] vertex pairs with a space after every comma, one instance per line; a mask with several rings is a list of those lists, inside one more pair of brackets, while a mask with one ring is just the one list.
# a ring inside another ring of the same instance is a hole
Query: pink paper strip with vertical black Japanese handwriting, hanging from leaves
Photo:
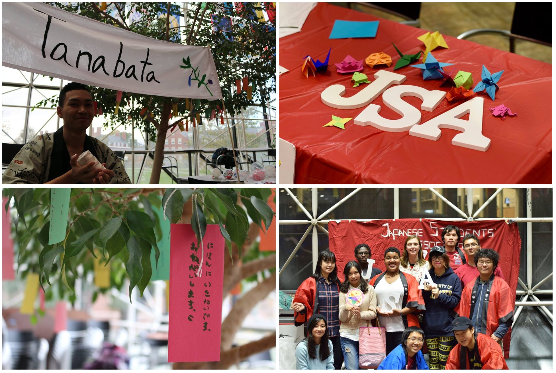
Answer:
[[168, 362], [220, 361], [224, 237], [207, 225], [201, 247], [190, 224], [170, 226]]

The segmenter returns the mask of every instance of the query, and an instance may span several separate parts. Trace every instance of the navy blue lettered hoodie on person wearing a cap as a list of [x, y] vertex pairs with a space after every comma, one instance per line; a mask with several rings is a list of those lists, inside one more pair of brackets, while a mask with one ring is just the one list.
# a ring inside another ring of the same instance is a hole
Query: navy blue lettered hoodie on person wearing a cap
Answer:
[[431, 291], [421, 290], [423, 299], [425, 300], [426, 311], [423, 314], [423, 323], [421, 327], [425, 332], [425, 338], [438, 336], [454, 336], [450, 331], [451, 322], [454, 316], [452, 311], [458, 306], [461, 299], [461, 281], [451, 268], [440, 276], [434, 274], [434, 268], [429, 270], [429, 274], [434, 283], [438, 286], [440, 294], [438, 298], [430, 298]]

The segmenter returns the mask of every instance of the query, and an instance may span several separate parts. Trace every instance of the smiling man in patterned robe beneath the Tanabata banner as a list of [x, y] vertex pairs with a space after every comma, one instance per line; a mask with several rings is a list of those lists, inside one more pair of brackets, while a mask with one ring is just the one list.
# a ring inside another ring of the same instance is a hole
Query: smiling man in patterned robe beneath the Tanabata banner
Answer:
[[[66, 84], [56, 113], [63, 119], [62, 127], [23, 145], [2, 175], [3, 184], [131, 184], [112, 149], [86, 134], [95, 117], [86, 85]], [[96, 169], [95, 162], [80, 165], [77, 158], [86, 150], [106, 169]]]

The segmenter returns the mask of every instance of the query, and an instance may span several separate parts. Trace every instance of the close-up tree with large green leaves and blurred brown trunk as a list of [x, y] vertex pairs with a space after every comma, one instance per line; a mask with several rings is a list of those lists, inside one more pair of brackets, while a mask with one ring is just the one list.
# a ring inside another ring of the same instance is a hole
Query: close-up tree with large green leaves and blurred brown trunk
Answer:
[[[131, 291], [137, 287], [142, 296], [153, 273], [151, 252], [158, 262], [162, 219], [192, 224], [197, 239], [205, 234], [207, 224], [218, 224], [227, 251], [224, 297], [242, 280], [257, 285], [222, 322], [221, 361], [186, 365], [203, 369], [226, 369], [238, 356], [245, 359], [275, 345], [272, 334], [251, 346], [232, 347], [249, 311], [276, 285], [276, 255], [259, 251], [255, 240], [274, 219], [266, 203], [270, 194], [270, 188], [72, 188], [65, 239], [49, 245], [51, 188], [3, 189], [8, 199], [5, 211], [13, 218], [17, 278], [39, 274], [47, 302], [75, 303], [76, 280], [85, 281], [94, 273], [95, 258], [110, 266], [110, 289], [126, 291], [127, 285], [131, 301]], [[270, 275], [257, 281], [256, 274], [264, 270]], [[94, 289], [93, 302], [98, 293], [110, 293], [94, 284], [87, 287]], [[42, 311], [36, 310], [33, 317], [40, 316]]]

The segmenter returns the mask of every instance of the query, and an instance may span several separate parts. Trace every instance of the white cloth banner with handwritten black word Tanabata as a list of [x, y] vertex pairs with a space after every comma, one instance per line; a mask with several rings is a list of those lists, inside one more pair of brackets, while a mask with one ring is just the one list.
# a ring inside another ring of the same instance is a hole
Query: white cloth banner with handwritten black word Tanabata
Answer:
[[2, 5], [2, 64], [124, 92], [222, 98], [210, 48], [148, 38], [43, 3]]

